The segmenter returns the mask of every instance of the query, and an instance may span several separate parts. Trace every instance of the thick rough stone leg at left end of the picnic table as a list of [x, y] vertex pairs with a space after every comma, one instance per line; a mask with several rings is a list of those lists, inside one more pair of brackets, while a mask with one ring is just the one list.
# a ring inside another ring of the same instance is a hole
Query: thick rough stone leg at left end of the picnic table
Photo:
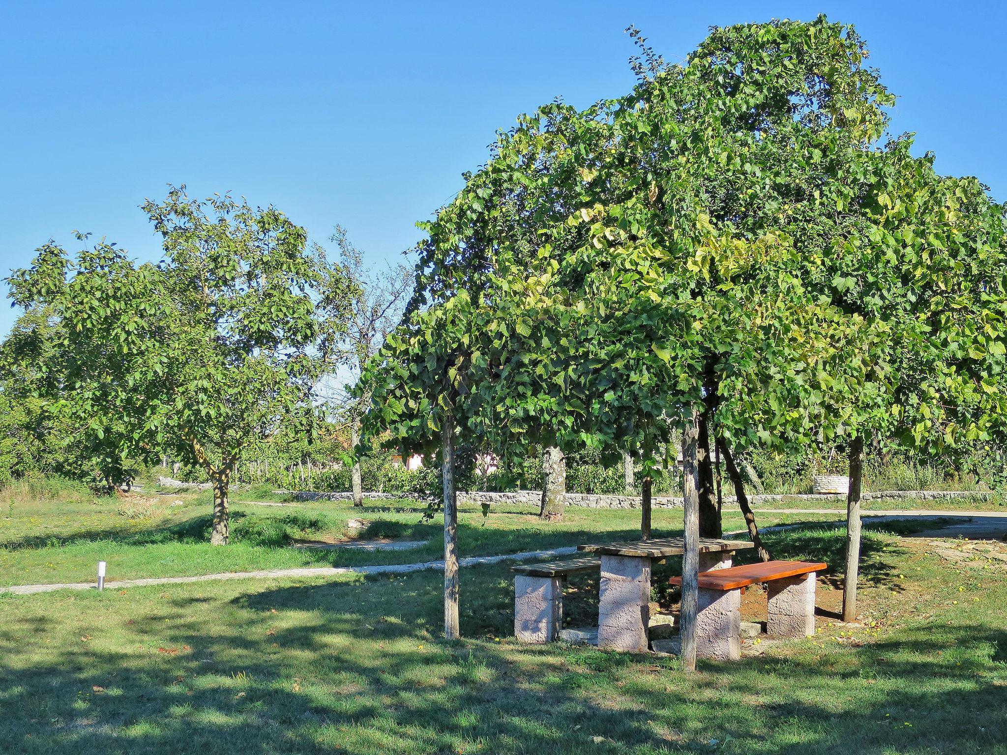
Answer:
[[646, 652], [650, 603], [651, 560], [602, 556], [598, 647]]

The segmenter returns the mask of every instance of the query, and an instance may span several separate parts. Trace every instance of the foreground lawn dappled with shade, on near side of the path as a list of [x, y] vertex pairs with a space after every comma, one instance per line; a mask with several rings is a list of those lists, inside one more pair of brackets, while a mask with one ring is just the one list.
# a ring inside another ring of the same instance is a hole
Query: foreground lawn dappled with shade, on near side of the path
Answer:
[[[835, 602], [841, 530], [767, 540], [833, 565], [819, 602]], [[1004, 753], [1007, 573], [987, 566], [872, 527], [865, 626], [822, 619], [816, 637], [695, 675], [519, 645], [503, 566], [462, 571], [455, 643], [438, 639], [436, 572], [7, 595], [0, 751]], [[572, 587], [570, 613], [590, 618], [596, 580]]]

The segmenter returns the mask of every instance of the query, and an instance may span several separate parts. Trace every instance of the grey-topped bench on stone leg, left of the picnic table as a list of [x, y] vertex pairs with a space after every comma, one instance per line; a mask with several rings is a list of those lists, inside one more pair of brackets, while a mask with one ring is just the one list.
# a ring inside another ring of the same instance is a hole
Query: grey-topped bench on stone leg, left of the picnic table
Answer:
[[512, 567], [514, 633], [522, 642], [556, 639], [563, 626], [563, 584], [571, 574], [597, 572], [601, 559], [583, 558]]

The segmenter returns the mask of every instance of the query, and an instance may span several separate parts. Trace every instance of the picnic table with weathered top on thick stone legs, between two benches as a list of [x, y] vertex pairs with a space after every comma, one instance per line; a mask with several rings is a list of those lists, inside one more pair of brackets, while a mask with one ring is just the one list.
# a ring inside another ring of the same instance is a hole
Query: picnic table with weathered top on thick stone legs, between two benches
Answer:
[[[747, 541], [699, 539], [699, 570], [729, 568], [731, 554], [754, 548]], [[651, 621], [651, 568], [657, 561], [685, 553], [684, 538], [655, 538], [578, 546], [601, 557], [598, 647], [644, 652]]]

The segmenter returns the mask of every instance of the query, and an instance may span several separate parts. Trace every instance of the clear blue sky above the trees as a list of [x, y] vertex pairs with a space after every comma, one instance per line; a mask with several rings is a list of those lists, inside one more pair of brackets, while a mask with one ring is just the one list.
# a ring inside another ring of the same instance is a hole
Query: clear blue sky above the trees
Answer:
[[[853, 23], [944, 173], [1007, 199], [1007, 4], [988, 2], [7, 2], [0, 6], [0, 273], [74, 229], [159, 247], [137, 205], [167, 182], [336, 223], [394, 259], [493, 132], [556, 96], [632, 85], [623, 29], [666, 58], [710, 25]], [[15, 316], [0, 305], [0, 334]]]

